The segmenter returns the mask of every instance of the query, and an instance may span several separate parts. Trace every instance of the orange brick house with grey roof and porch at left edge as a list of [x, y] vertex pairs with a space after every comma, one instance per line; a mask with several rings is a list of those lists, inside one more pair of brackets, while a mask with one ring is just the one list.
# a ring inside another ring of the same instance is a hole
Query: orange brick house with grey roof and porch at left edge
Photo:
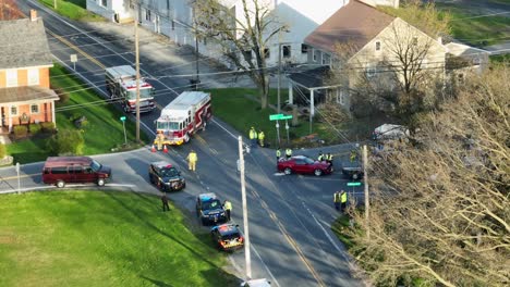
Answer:
[[0, 128], [54, 121], [57, 93], [50, 89], [53, 66], [45, 25], [35, 10], [29, 18], [0, 21]]

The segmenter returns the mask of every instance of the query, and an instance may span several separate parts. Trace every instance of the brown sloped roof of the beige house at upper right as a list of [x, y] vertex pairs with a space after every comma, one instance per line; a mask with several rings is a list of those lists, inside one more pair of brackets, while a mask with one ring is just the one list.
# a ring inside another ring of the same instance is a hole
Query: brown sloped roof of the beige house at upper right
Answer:
[[374, 7], [351, 0], [309, 34], [304, 42], [327, 52], [335, 52], [337, 42], [347, 41], [361, 49], [393, 20]]

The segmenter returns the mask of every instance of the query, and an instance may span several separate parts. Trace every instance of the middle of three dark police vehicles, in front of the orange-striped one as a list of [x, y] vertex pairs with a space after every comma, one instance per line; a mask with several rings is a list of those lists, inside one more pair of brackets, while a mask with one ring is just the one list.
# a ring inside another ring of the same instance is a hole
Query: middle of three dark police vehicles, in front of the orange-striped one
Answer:
[[196, 198], [196, 215], [204, 225], [227, 222], [223, 205], [212, 192], [202, 194]]

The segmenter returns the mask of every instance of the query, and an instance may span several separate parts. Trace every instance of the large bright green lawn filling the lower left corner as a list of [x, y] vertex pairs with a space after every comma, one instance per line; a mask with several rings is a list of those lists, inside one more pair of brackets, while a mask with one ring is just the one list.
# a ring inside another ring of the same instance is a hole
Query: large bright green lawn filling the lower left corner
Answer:
[[1, 196], [0, 286], [238, 286], [171, 208], [116, 191]]

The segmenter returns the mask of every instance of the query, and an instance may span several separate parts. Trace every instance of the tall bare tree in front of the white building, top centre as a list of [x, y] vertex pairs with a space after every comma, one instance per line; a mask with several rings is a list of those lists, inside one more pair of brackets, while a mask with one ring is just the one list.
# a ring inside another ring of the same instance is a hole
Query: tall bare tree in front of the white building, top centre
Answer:
[[[194, 2], [198, 37], [214, 40], [222, 54], [240, 71], [246, 71], [260, 89], [262, 108], [267, 108], [269, 71], [266, 58], [270, 40], [286, 29], [272, 11], [272, 1], [240, 0], [228, 8], [219, 0]], [[242, 11], [236, 15], [235, 11]]]

